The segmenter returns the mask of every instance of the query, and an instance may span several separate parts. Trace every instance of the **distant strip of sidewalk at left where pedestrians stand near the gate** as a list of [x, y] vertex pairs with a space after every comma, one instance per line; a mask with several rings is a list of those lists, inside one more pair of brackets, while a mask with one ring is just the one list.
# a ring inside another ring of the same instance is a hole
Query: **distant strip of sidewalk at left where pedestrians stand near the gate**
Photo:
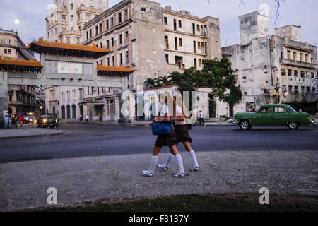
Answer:
[[61, 135], [63, 133], [65, 133], [65, 131], [59, 129], [37, 128], [37, 126], [33, 124], [23, 124], [22, 129], [0, 129], [0, 139]]

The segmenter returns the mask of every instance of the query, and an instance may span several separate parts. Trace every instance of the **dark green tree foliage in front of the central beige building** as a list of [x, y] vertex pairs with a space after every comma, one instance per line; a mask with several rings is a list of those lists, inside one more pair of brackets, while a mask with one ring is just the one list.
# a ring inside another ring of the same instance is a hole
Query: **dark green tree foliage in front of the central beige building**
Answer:
[[228, 59], [220, 61], [216, 59], [204, 59], [202, 71], [193, 67], [186, 69], [184, 73], [172, 72], [169, 76], [159, 78], [148, 78], [145, 85], [151, 87], [163, 87], [167, 85], [178, 85], [179, 91], [194, 91], [196, 88], [210, 87], [213, 97], [220, 101], [235, 105], [242, 99], [242, 92], [236, 86], [237, 79], [233, 74], [232, 64]]

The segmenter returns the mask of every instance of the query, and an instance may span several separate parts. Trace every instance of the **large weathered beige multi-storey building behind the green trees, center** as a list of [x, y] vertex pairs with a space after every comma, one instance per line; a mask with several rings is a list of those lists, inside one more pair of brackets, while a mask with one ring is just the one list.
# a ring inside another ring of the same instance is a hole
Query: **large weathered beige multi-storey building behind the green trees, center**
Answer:
[[147, 78], [202, 69], [203, 59], [221, 58], [218, 18], [198, 18], [147, 0], [121, 1], [86, 23], [82, 44], [93, 42], [112, 50], [98, 64], [138, 69], [119, 93], [140, 90]]

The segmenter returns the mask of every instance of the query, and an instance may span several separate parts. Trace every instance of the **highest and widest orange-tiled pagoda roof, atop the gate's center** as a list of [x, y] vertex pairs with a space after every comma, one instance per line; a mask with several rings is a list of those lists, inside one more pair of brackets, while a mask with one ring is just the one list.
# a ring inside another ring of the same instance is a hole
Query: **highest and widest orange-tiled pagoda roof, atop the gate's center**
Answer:
[[33, 41], [25, 49], [30, 49], [39, 54], [59, 55], [67, 57], [86, 57], [97, 59], [112, 52], [107, 48], [99, 48], [95, 43], [91, 46], [81, 44], [70, 44], [62, 42], [47, 42], [40, 37], [38, 41]]

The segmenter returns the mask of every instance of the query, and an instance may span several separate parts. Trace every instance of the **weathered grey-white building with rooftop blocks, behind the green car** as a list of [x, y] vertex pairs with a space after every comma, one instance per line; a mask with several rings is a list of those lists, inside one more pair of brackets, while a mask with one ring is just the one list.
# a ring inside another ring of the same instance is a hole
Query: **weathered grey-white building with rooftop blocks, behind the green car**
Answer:
[[288, 103], [314, 114], [317, 47], [301, 42], [300, 26], [277, 28], [275, 35], [269, 35], [268, 17], [254, 12], [239, 19], [241, 44], [222, 48], [243, 93], [234, 113], [267, 103]]

